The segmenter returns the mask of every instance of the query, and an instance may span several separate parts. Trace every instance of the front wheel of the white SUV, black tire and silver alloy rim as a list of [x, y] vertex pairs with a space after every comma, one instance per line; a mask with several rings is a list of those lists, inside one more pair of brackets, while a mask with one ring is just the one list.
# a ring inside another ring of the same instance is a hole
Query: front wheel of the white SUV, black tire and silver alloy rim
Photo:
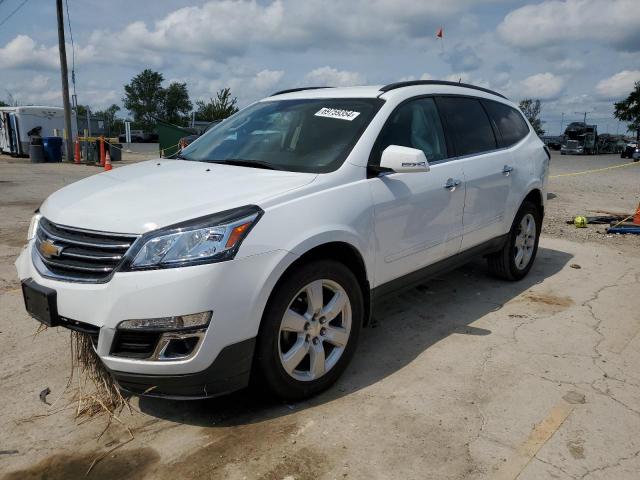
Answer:
[[[322, 297], [322, 309], [317, 308], [318, 301], [311, 300], [318, 285], [323, 293], [316, 293], [315, 298]], [[333, 305], [338, 306], [327, 308], [335, 299], [339, 301]], [[338, 308], [340, 312], [331, 319], [331, 310]], [[322, 312], [329, 312], [326, 318]], [[289, 401], [329, 388], [353, 357], [363, 318], [362, 291], [347, 267], [333, 260], [301, 265], [276, 285], [267, 303], [256, 343], [252, 383]]]

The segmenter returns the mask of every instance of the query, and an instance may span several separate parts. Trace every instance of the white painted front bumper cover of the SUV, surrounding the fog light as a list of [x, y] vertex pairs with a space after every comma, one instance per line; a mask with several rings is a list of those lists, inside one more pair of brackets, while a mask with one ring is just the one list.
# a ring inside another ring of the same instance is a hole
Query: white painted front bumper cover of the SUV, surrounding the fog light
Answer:
[[[145, 384], [146, 376], [154, 377], [154, 381], [158, 380], [155, 376], [191, 376], [175, 382], [168, 380], [168, 387], [158, 390], [166, 390], [167, 395], [178, 395], [171, 385], [196, 385], [210, 378], [210, 369], [225, 347], [256, 337], [271, 290], [296, 258], [284, 250], [274, 250], [207, 265], [117, 272], [108, 283], [87, 284], [42, 277], [31, 259], [32, 246], [33, 241], [16, 260], [20, 279], [32, 278], [55, 289], [60, 316], [100, 329], [96, 351], [125, 389], [135, 391], [126, 385]], [[213, 311], [213, 317], [197, 351], [187, 359], [151, 361], [111, 353], [116, 327], [123, 320], [205, 311]], [[214, 371], [219, 369], [216, 366]], [[244, 374], [242, 370], [237, 369], [235, 374]], [[149, 386], [153, 386], [151, 383]], [[209, 383], [207, 380], [204, 385]], [[185, 390], [188, 395], [192, 394], [190, 389]]]

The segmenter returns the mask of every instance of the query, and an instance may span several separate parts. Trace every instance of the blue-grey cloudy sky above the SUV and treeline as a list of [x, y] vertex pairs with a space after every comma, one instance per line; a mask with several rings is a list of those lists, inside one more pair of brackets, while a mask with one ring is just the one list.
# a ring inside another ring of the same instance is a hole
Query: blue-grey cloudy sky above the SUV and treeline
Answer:
[[[55, 2], [0, 0], [0, 99], [61, 104]], [[68, 0], [78, 101], [121, 104], [144, 68], [192, 98], [230, 86], [246, 105], [301, 85], [435, 78], [544, 102], [549, 133], [640, 80], [639, 0]], [[444, 27], [444, 41], [437, 29]], [[67, 28], [69, 68], [72, 49]], [[624, 130], [624, 126], [620, 128]]]

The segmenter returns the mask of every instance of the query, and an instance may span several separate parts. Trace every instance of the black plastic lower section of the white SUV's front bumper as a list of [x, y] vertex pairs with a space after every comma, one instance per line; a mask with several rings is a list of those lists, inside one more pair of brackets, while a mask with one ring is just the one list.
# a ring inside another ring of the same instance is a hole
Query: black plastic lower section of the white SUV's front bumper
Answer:
[[256, 339], [222, 349], [205, 370], [184, 375], [144, 375], [109, 370], [120, 388], [135, 395], [198, 400], [231, 393], [249, 384]]

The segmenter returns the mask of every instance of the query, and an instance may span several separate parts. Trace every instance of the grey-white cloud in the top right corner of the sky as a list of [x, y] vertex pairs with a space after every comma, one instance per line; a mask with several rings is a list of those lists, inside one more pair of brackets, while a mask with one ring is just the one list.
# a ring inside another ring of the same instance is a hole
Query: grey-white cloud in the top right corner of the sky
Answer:
[[593, 40], [621, 50], [640, 50], [637, 0], [546, 0], [507, 14], [498, 32], [519, 48], [557, 46]]

